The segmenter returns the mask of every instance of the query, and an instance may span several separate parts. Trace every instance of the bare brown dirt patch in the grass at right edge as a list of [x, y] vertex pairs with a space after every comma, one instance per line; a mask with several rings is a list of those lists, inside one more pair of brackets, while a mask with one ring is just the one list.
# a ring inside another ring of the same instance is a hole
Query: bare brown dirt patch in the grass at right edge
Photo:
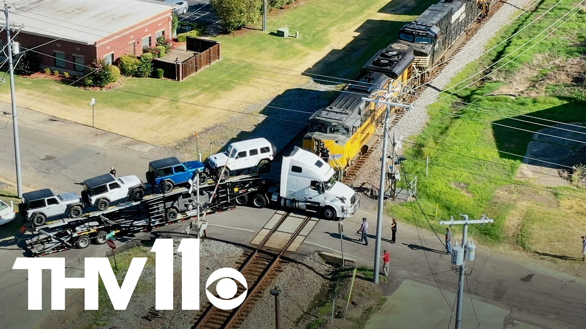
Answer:
[[566, 85], [583, 88], [586, 85], [586, 59], [575, 57], [567, 60], [537, 55], [507, 81], [489, 95], [511, 97], [538, 97], [547, 94], [548, 85]]

